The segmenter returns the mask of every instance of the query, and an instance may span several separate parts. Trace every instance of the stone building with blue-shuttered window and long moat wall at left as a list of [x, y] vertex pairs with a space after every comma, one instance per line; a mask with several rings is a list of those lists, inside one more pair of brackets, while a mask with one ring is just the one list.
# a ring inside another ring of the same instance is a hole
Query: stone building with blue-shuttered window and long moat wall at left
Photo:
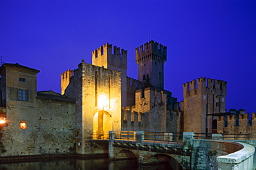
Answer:
[[75, 152], [75, 101], [37, 92], [37, 73], [20, 64], [0, 68], [2, 157]]

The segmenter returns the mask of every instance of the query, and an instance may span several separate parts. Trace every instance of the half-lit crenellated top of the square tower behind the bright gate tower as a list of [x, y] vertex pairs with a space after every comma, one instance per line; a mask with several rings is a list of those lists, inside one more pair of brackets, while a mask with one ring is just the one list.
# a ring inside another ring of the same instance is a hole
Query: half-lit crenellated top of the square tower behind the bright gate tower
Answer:
[[113, 46], [112, 44], [104, 44], [91, 52], [92, 62], [95, 66], [104, 66], [108, 68], [108, 64], [127, 69], [127, 50]]

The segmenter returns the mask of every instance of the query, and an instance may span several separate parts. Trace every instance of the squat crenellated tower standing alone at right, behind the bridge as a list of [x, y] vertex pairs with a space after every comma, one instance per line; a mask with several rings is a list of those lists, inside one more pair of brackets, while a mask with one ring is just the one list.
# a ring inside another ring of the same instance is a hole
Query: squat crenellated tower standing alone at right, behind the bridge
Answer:
[[183, 84], [184, 131], [212, 133], [212, 121], [226, 112], [226, 86], [203, 77]]

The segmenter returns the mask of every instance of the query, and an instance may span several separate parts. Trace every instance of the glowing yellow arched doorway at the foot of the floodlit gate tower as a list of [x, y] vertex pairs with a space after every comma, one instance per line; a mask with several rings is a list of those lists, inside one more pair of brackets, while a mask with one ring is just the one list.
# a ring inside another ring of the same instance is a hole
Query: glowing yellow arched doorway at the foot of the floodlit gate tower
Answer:
[[111, 115], [107, 111], [98, 111], [93, 115], [93, 138], [107, 138], [112, 131]]

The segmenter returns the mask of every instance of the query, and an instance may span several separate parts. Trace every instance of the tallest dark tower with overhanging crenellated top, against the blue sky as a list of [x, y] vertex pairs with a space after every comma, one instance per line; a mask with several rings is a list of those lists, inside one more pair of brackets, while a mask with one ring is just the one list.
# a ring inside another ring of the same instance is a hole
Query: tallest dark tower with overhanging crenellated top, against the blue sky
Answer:
[[166, 56], [167, 47], [153, 40], [136, 48], [138, 80], [163, 88]]

